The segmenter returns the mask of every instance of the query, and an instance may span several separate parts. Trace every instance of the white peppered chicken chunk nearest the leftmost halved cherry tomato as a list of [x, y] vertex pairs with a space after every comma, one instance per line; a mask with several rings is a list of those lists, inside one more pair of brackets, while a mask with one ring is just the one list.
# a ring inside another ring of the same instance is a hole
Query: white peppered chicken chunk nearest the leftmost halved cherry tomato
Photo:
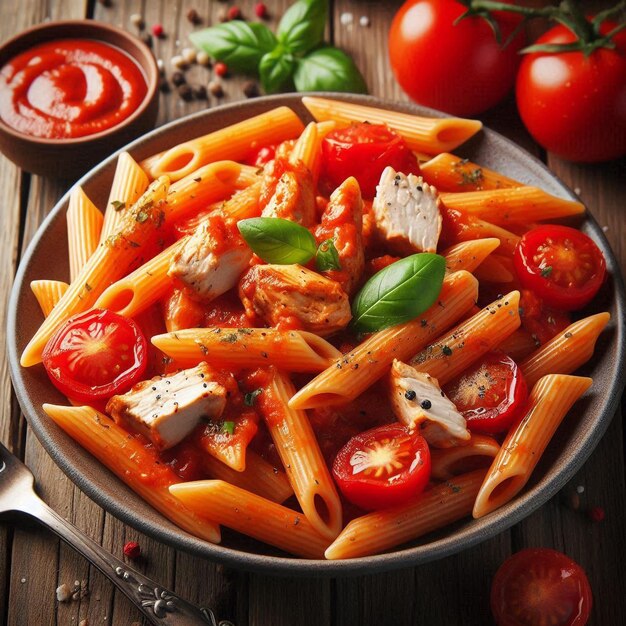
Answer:
[[180, 443], [207, 417], [217, 420], [226, 406], [226, 389], [211, 380], [206, 363], [168, 376], [137, 383], [128, 393], [113, 396], [107, 413], [130, 424], [159, 450]]

